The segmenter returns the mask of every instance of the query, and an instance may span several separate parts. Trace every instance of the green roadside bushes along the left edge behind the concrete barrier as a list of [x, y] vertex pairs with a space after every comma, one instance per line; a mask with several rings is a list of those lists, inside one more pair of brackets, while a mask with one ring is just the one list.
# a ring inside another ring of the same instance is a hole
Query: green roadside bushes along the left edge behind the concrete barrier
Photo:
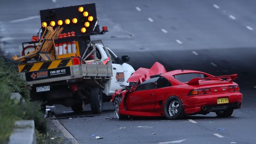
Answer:
[[[10, 92], [19, 92], [26, 103], [10, 99]], [[20, 79], [13, 63], [0, 57], [0, 144], [8, 142], [16, 120], [34, 120], [37, 143], [58, 143], [46, 134], [46, 120], [39, 102], [30, 102], [26, 82]]]

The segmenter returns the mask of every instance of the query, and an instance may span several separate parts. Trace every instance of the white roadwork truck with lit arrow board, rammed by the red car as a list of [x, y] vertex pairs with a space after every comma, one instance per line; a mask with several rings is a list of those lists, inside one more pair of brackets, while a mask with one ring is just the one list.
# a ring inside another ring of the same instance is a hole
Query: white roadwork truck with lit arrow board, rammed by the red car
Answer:
[[[73, 11], [72, 9], [78, 9], [78, 7], [79, 11], [83, 7], [89, 14], [96, 17], [96, 13], [92, 10], [95, 8], [95, 4], [86, 4], [40, 11], [41, 22], [43, 24], [45, 20], [47, 21], [48, 16], [45, 15], [48, 14], [48, 11], [57, 17], [61, 11], [67, 11], [67, 9]], [[61, 13], [61, 17], [63, 14], [65, 13]], [[79, 13], [77, 15], [76, 17], [80, 16]], [[85, 17], [85, 15], [83, 16]], [[45, 17], [46, 19], [44, 19]], [[65, 17], [68, 16], [65, 15]], [[58, 20], [58, 18], [55, 19]], [[81, 19], [78, 19], [78, 22]], [[54, 21], [54, 18], [52, 20]], [[84, 105], [90, 103], [92, 112], [100, 114], [103, 102], [110, 100], [115, 90], [121, 89], [121, 85], [129, 85], [126, 81], [135, 72], [134, 68], [126, 63], [130, 59], [129, 56], [124, 55], [120, 59], [105, 46], [102, 40], [91, 41], [90, 35], [103, 34], [107, 30], [99, 30], [98, 20], [92, 21], [90, 26], [86, 30], [88, 31], [87, 35], [83, 33], [78, 35], [78, 31], [75, 37], [52, 40], [55, 43], [75, 41], [76, 52], [73, 55], [76, 57], [68, 57], [71, 54], [63, 54], [56, 55], [56, 59], [48, 61], [34, 57], [33, 61], [24, 59], [19, 65], [20, 76], [28, 84], [32, 101], [41, 101], [42, 111], [45, 111], [46, 105], [61, 104], [71, 107], [74, 112], [81, 112]], [[66, 31], [72, 31], [78, 26], [63, 27], [64, 30], [66, 28]], [[24, 42], [22, 44], [23, 53], [28, 53], [26, 52], [28, 47], [36, 48], [37, 45], [44, 44], [39, 43], [40, 41]], [[53, 50], [54, 48], [52, 46]], [[40, 54], [40, 52], [38, 53]], [[94, 55], [94, 59], [89, 59], [90, 55]]]

